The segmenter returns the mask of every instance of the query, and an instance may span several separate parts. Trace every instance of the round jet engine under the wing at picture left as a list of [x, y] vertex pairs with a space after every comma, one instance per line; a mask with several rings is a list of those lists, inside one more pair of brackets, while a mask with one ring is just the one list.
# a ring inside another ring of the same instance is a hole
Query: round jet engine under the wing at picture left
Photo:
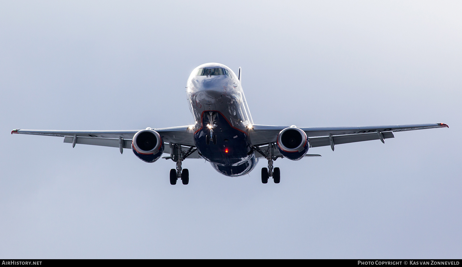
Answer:
[[141, 160], [154, 162], [164, 153], [164, 141], [157, 131], [148, 128], [135, 133], [132, 139], [132, 150]]

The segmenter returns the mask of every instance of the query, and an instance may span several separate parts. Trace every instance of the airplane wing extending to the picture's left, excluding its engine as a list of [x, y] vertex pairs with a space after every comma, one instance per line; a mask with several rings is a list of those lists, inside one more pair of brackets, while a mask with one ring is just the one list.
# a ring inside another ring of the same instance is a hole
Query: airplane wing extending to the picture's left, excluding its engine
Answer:
[[[192, 130], [189, 129], [189, 126], [157, 128], [152, 130], [157, 131], [164, 140], [164, 142], [176, 143], [185, 146], [195, 146], [193, 139], [194, 133]], [[64, 137], [65, 143], [74, 143], [75, 141], [75, 143], [77, 144], [97, 145], [116, 148], [122, 146], [122, 148], [131, 148], [132, 138], [138, 131], [141, 130], [60, 131], [15, 129], [11, 131], [11, 133], [42, 136], [60, 136]], [[170, 153], [169, 146], [166, 146], [164, 153]]]

